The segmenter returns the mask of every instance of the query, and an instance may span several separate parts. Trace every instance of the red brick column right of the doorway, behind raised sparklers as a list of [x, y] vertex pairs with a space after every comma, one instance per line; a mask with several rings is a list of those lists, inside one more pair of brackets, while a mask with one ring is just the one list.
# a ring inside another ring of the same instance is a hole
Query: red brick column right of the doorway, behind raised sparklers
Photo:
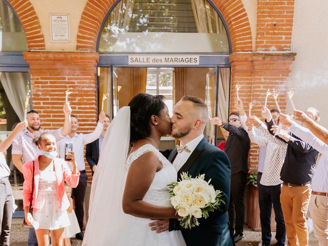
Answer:
[[[233, 53], [230, 55], [231, 71], [231, 104], [230, 112], [235, 111], [237, 100], [235, 86], [241, 86], [239, 97], [243, 101], [248, 115], [249, 103], [256, 100], [253, 114], [261, 118], [260, 111], [264, 106], [265, 93], [275, 88], [280, 93], [278, 103], [282, 112], [286, 110], [286, 80], [291, 72], [290, 67], [295, 53]], [[268, 108], [276, 108], [273, 97], [268, 99]], [[249, 155], [249, 166], [257, 169], [258, 146], [252, 145]]]

